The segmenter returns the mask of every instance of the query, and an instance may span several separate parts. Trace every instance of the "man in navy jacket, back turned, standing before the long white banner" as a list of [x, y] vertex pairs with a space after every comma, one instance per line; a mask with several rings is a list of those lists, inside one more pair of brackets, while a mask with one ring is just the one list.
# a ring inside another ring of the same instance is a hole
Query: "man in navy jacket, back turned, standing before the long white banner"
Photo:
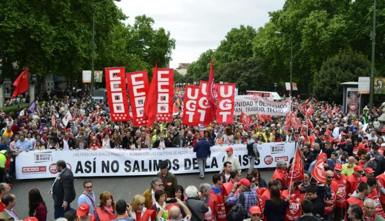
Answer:
[[197, 161], [199, 168], [199, 178], [204, 179], [204, 168], [206, 167], [207, 157], [210, 158], [210, 144], [204, 138], [204, 134], [201, 133], [199, 141], [194, 146], [194, 152], [197, 153]]

